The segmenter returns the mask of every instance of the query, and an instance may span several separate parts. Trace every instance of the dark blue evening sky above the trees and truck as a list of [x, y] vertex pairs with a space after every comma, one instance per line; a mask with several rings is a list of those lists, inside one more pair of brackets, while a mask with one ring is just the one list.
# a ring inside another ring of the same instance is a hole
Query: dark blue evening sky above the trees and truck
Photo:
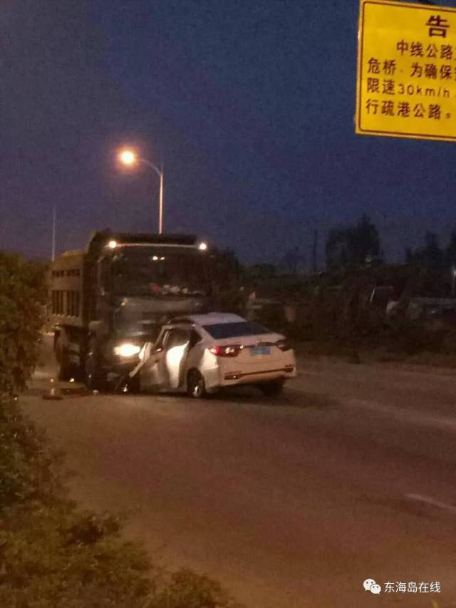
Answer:
[[[441, 4], [450, 6], [450, 1]], [[390, 259], [456, 225], [452, 143], [355, 135], [356, 0], [3, 0], [0, 247], [156, 230], [157, 176], [122, 175], [137, 143], [165, 163], [165, 230], [246, 262], [371, 215]]]

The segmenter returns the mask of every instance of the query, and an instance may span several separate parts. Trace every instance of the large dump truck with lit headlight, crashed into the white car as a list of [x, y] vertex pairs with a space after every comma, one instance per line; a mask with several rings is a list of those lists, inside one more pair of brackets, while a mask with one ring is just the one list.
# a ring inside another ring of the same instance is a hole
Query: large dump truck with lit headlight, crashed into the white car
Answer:
[[207, 248], [193, 235], [97, 232], [51, 268], [60, 377], [115, 386], [173, 316], [207, 311], [213, 295]]

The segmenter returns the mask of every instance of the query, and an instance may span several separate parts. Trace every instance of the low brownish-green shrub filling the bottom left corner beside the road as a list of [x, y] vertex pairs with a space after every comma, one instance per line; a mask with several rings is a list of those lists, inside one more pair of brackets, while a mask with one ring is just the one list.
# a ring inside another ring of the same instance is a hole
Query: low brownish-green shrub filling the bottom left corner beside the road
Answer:
[[87, 517], [65, 501], [4, 517], [2, 607], [145, 607], [151, 589], [147, 555], [92, 514], [101, 533], [86, 542]]

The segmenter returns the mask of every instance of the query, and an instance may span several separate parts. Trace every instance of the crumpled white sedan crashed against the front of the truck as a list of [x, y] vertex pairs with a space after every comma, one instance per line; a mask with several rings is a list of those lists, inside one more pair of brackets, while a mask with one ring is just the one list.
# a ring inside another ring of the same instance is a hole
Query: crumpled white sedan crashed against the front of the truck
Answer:
[[212, 312], [173, 319], [155, 344], [147, 343], [137, 375], [141, 391], [182, 391], [194, 398], [249, 384], [279, 395], [296, 376], [294, 351], [284, 336], [237, 314]]

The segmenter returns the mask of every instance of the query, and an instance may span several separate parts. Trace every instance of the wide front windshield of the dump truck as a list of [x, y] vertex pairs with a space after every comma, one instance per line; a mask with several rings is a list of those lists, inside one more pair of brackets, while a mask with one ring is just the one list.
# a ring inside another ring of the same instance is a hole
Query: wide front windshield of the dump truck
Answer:
[[113, 291], [155, 297], [209, 292], [203, 252], [188, 247], [122, 247], [113, 256]]

